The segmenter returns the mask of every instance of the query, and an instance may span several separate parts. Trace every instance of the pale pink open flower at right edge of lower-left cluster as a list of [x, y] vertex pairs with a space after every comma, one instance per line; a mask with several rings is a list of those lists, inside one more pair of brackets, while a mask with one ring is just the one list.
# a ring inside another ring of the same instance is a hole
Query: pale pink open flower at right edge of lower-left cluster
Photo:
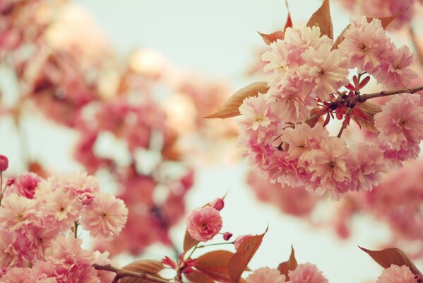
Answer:
[[91, 236], [110, 240], [120, 233], [127, 218], [128, 209], [123, 200], [111, 193], [100, 192], [84, 207], [81, 224]]

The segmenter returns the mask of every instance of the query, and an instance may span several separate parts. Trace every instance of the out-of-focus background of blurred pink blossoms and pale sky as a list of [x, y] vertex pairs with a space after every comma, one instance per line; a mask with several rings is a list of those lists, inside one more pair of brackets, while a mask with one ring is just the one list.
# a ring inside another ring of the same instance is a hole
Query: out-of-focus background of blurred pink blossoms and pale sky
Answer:
[[[294, 25], [321, 5], [288, 2]], [[335, 35], [352, 11], [368, 12], [362, 1], [341, 2], [331, 4]], [[423, 31], [412, 28], [422, 7], [405, 2], [412, 8], [390, 33], [418, 53]], [[85, 235], [85, 246], [110, 250], [121, 266], [174, 256], [186, 212], [227, 194], [222, 231], [236, 237], [269, 226], [251, 269], [277, 267], [291, 245], [330, 282], [380, 275], [357, 246], [398, 246], [423, 267], [423, 161], [389, 173], [372, 192], [333, 202], [250, 173], [233, 119], [203, 119], [237, 89], [266, 79], [257, 31], [283, 27], [285, 1], [21, 0], [0, 1], [0, 9], [0, 152], [8, 174], [87, 171], [129, 208], [121, 236]]]

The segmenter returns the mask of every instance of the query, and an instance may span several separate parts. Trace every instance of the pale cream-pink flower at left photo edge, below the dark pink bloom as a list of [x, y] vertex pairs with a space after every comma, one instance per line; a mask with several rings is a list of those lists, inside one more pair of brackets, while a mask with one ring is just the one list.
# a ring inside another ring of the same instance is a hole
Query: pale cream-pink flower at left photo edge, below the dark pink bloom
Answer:
[[5, 231], [18, 230], [37, 221], [37, 202], [13, 193], [5, 197], [0, 207], [0, 224]]

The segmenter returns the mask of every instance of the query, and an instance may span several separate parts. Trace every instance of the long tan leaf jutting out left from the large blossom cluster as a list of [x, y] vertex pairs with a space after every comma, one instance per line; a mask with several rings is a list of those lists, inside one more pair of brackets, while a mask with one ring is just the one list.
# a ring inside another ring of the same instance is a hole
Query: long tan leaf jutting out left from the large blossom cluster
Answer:
[[250, 83], [248, 86], [241, 88], [239, 91], [234, 93], [218, 112], [208, 115], [205, 118], [225, 119], [238, 116], [240, 115], [238, 108], [242, 105], [245, 98], [257, 96], [258, 93], [267, 93], [268, 90], [269, 87], [266, 81], [256, 81], [255, 83]]

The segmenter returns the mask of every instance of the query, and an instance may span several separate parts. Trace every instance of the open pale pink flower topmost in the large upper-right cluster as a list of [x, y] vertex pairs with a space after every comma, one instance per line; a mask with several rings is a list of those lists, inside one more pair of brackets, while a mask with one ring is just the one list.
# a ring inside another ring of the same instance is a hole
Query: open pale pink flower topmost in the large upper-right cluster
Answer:
[[379, 67], [391, 48], [391, 41], [383, 30], [381, 21], [374, 18], [370, 23], [364, 16], [352, 18], [345, 39], [340, 43], [340, 52], [348, 58], [350, 69], [373, 71]]

